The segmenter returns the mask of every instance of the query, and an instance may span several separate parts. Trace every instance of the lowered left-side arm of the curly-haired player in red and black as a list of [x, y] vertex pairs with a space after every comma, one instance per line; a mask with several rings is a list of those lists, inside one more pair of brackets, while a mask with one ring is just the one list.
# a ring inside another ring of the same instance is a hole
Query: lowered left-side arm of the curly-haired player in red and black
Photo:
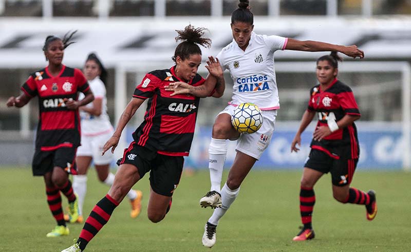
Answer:
[[113, 136], [108, 139], [108, 141], [104, 144], [103, 152], [101, 155], [104, 155], [106, 151], [111, 148], [111, 153], [114, 153], [114, 150], [119, 143], [121, 133], [123, 132], [125, 125], [127, 125], [128, 121], [134, 116], [137, 109], [141, 106], [144, 102], [144, 99], [135, 98], [133, 97], [130, 102], [128, 102], [127, 106], [125, 107], [123, 113], [120, 116], [120, 119], [117, 123], [116, 131], [113, 133]]

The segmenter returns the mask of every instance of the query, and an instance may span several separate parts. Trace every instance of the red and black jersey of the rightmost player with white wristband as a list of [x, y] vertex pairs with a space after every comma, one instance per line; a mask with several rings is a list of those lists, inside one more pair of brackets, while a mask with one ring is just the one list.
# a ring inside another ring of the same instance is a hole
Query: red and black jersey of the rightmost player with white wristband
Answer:
[[[346, 114], [361, 115], [351, 88], [338, 79], [334, 79], [326, 90], [321, 90], [320, 85], [313, 87], [310, 96], [308, 110], [317, 112], [317, 127], [328, 127], [328, 120], [339, 121]], [[312, 140], [311, 148], [334, 158], [358, 158], [360, 147], [356, 124], [338, 129], [321, 141]]]

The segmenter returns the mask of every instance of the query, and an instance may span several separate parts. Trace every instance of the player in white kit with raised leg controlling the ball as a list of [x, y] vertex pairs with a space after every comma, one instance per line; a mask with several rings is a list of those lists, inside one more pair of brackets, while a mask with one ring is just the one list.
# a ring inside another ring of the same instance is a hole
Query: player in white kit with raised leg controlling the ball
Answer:
[[[274, 52], [276, 50], [339, 51], [354, 58], [364, 57], [364, 52], [359, 50], [357, 46], [346, 47], [319, 41], [300, 41], [280, 36], [255, 34], [253, 32], [254, 17], [250, 11], [248, 0], [240, 0], [238, 7], [231, 15], [231, 29], [234, 39], [217, 55], [222, 69], [230, 71], [234, 81], [234, 92], [229, 106], [218, 114], [213, 125], [209, 148], [211, 190], [200, 199], [200, 204], [203, 207], [217, 207], [204, 227], [202, 243], [207, 247], [212, 247], [215, 244], [218, 221], [234, 202], [241, 182], [271, 141], [277, 115], [276, 110], [279, 109], [274, 72]], [[171, 86], [177, 86], [174, 88], [176, 93], [191, 93], [198, 96], [204, 96], [214, 88], [194, 88], [188, 87], [184, 83]], [[263, 126], [254, 134], [239, 135], [231, 124], [231, 114], [235, 106], [242, 102], [255, 103], [263, 111]], [[222, 169], [227, 156], [226, 141], [237, 138], [237, 154], [227, 182], [220, 191]]]

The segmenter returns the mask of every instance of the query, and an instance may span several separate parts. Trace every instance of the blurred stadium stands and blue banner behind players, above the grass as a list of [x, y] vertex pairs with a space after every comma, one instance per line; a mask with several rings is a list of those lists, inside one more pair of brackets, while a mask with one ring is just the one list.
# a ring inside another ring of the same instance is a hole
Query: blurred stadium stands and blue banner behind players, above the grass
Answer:
[[[203, 59], [216, 55], [232, 40], [232, 0], [71, 0], [0, 1], [0, 164], [31, 162], [38, 117], [35, 102], [21, 110], [5, 106], [20, 93], [28, 74], [46, 66], [41, 50], [49, 34], [63, 36], [78, 30], [76, 44], [64, 56], [64, 64], [82, 68], [86, 55], [97, 52], [109, 69], [108, 109], [112, 122], [147, 71], [169, 68], [176, 46], [176, 29], [192, 24], [209, 29], [213, 45]], [[257, 0], [251, 1], [257, 33], [301, 40], [356, 44], [363, 60], [345, 57], [340, 79], [354, 90], [362, 112], [358, 123], [361, 169], [400, 170], [411, 166], [410, 65], [411, 1], [384, 0]], [[281, 101], [272, 143], [257, 162], [257, 169], [299, 169], [309, 152], [314, 123], [303, 136], [303, 148], [289, 148], [315, 85], [315, 59], [324, 53], [281, 51], [275, 53]], [[203, 62], [199, 72], [206, 74]], [[222, 98], [201, 100], [196, 139], [188, 164], [207, 167], [208, 143], [214, 117], [230, 99], [232, 83], [226, 72], [227, 90]], [[128, 124], [122, 147], [142, 119], [143, 111]], [[232, 162], [234, 142], [228, 155]], [[122, 148], [117, 149], [117, 156]]]

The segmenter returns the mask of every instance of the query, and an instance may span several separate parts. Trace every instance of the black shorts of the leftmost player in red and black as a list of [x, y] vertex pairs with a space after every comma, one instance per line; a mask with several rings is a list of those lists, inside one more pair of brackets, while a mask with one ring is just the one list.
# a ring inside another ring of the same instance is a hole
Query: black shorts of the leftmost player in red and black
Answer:
[[43, 176], [53, 171], [53, 167], [59, 166], [67, 173], [76, 175], [76, 151], [77, 148], [62, 147], [54, 151], [35, 150], [32, 162], [33, 176]]

